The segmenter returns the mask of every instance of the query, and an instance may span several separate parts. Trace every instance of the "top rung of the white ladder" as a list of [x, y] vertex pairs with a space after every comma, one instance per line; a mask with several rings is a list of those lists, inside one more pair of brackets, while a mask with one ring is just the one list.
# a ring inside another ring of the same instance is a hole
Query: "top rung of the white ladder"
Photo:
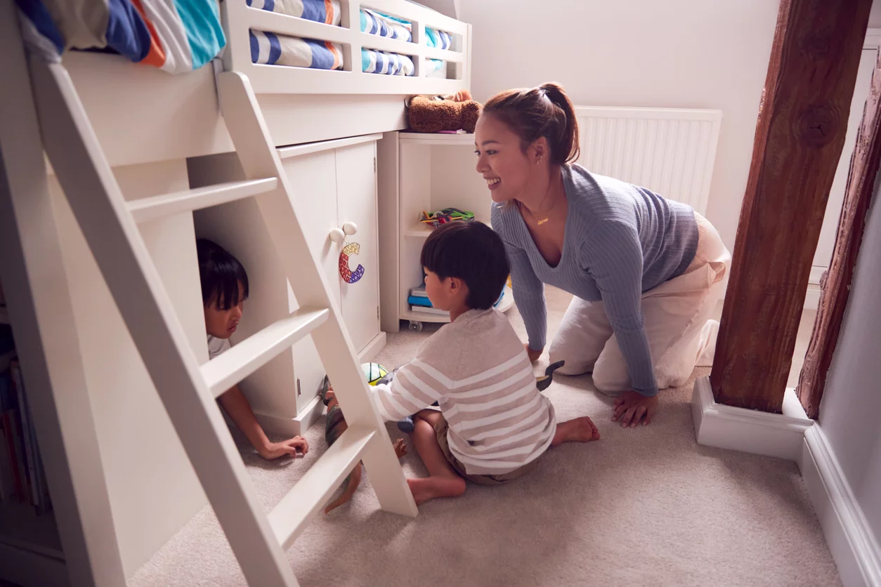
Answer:
[[217, 206], [252, 195], [264, 194], [278, 187], [278, 178], [229, 181], [214, 186], [196, 187], [174, 194], [156, 195], [129, 202], [135, 222], [147, 222], [162, 216]]

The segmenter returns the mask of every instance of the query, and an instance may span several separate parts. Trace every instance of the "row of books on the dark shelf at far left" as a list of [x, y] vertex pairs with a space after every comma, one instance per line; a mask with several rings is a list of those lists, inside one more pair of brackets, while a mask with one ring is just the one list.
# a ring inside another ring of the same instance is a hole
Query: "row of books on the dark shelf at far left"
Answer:
[[0, 502], [52, 509], [21, 367], [8, 325], [0, 325]]

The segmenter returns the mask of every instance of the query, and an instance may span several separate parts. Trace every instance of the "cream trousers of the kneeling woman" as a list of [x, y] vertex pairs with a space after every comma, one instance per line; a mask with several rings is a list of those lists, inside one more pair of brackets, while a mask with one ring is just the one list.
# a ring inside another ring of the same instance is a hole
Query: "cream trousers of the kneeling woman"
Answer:
[[[685, 273], [642, 294], [642, 314], [658, 389], [683, 385], [695, 366], [713, 363], [719, 322], [710, 319], [725, 293], [731, 254], [713, 226], [697, 212], [698, 250]], [[607, 395], [632, 389], [627, 365], [612, 332], [603, 302], [575, 297], [549, 350], [557, 372], [593, 372], [594, 385]]]

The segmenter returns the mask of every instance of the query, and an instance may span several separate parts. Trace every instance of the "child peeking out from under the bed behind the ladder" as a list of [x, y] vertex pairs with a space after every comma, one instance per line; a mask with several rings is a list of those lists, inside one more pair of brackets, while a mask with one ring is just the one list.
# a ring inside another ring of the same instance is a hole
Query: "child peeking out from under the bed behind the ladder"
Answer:
[[[229, 337], [239, 326], [242, 306], [248, 299], [248, 274], [239, 260], [207, 238], [196, 240], [196, 255], [202, 282], [208, 356], [213, 359], [230, 348]], [[304, 455], [309, 450], [309, 444], [302, 437], [270, 442], [238, 385], [230, 387], [218, 401], [263, 459], [278, 459], [285, 454], [297, 457], [298, 451]]]

